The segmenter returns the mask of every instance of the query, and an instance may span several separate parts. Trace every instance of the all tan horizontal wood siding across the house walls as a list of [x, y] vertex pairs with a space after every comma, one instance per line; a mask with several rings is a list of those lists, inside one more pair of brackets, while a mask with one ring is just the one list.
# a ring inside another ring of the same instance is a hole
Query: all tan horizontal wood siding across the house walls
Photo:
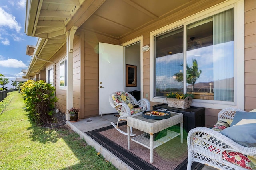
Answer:
[[[80, 41], [75, 37], [74, 42], [74, 105], [80, 106], [84, 112], [80, 114], [80, 118], [92, 117], [99, 115], [99, 89], [98, 89], [98, 53], [95, 49], [98, 43], [110, 43], [120, 45], [126, 43], [136, 37], [143, 35], [143, 45], [149, 45], [150, 32], [160, 29], [166, 25], [179, 21], [183, 18], [196, 14], [202, 10], [210, 8], [216, 4], [224, 2], [225, 0], [215, 1], [200, 1], [193, 6], [184, 10], [176, 11], [171, 16], [165, 18], [157, 18], [154, 23], [148, 23], [139, 30], [120, 37], [119, 40], [111, 37], [106, 37], [98, 33], [78, 29], [80, 32]], [[245, 0], [245, 110], [250, 111], [255, 109], [256, 103], [256, 1]], [[80, 47], [80, 46], [83, 47]], [[56, 103], [60, 110], [66, 110], [66, 90], [59, 89], [59, 60], [66, 56], [66, 45], [60, 49], [54, 56], [56, 63], [56, 96], [59, 101]], [[82, 68], [81, 68], [82, 66]], [[143, 53], [143, 98], [148, 99], [150, 96], [150, 53], [149, 51]], [[82, 78], [82, 80], [79, 78]], [[81, 86], [79, 87], [79, 85]], [[80, 98], [79, 94], [82, 96]], [[238, 96], [239, 97], [239, 96]], [[241, 96], [242, 97], [242, 96]], [[159, 104], [151, 102], [153, 105]], [[80, 104], [81, 105], [81, 104]], [[205, 110], [205, 126], [212, 127], [217, 121], [217, 115], [220, 110], [208, 109]]]

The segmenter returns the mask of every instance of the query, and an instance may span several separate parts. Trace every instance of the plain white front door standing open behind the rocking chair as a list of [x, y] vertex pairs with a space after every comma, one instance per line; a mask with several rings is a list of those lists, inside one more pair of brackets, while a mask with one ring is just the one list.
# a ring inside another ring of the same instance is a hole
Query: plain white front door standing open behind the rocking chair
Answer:
[[109, 96], [124, 90], [124, 47], [99, 43], [99, 112], [116, 113], [109, 103]]

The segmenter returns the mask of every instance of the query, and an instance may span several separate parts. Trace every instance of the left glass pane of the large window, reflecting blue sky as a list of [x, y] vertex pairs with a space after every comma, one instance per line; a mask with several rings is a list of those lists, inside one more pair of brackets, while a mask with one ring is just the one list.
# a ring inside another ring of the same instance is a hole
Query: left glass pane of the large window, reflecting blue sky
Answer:
[[155, 37], [155, 47], [155, 96], [183, 92], [183, 82], [175, 76], [183, 73], [183, 27]]

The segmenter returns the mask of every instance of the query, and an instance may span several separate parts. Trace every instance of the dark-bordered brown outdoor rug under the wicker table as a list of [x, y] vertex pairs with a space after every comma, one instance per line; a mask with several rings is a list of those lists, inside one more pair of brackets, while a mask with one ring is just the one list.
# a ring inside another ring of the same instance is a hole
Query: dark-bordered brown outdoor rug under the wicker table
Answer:
[[[126, 122], [120, 123], [119, 128], [127, 131]], [[133, 129], [136, 135], [143, 132]], [[154, 149], [154, 163], [150, 163], [150, 150], [142, 145], [130, 142], [127, 149], [127, 136], [118, 132], [112, 125], [101, 129], [86, 132], [104, 148], [108, 149], [118, 158], [135, 170], [186, 170], [187, 168], [187, 143], [180, 143], [176, 137]], [[201, 170], [204, 165], [194, 162], [192, 170]]]

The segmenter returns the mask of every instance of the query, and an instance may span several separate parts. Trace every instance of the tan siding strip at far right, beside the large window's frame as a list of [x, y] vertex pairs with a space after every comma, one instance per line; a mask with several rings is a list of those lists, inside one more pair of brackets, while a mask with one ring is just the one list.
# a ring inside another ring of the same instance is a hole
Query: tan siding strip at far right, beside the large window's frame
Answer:
[[256, 108], [256, 1], [245, 0], [245, 111]]

